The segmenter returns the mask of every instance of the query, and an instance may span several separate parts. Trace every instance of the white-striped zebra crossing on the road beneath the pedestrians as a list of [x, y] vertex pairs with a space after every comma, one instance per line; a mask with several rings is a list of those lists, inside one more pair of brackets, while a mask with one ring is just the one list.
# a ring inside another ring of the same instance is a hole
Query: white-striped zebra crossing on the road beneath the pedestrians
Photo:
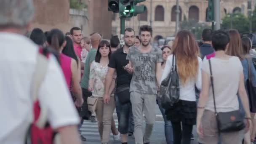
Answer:
[[[118, 120], [115, 119], [116, 128], [118, 126]], [[82, 127], [80, 128], [82, 135], [85, 136], [86, 141], [84, 144], [101, 144], [99, 131], [98, 131], [98, 123], [92, 123], [90, 120], [85, 120], [83, 122]], [[113, 142], [113, 134], [111, 133], [109, 136], [109, 143]]]

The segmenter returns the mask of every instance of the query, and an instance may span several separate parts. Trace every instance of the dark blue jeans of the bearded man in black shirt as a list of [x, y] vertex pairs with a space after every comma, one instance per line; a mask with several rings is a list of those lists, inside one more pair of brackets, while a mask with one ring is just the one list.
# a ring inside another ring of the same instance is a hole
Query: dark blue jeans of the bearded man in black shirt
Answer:
[[131, 104], [120, 104], [117, 95], [115, 95], [115, 107], [118, 118], [118, 131], [121, 134], [128, 133], [129, 115], [131, 112]]

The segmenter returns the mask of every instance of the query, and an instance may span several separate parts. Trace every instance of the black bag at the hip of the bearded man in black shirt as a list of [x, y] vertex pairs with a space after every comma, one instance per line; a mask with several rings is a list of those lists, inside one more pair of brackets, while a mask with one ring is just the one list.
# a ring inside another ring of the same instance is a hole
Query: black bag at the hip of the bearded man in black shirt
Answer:
[[130, 85], [120, 85], [115, 89], [120, 104], [130, 103]]

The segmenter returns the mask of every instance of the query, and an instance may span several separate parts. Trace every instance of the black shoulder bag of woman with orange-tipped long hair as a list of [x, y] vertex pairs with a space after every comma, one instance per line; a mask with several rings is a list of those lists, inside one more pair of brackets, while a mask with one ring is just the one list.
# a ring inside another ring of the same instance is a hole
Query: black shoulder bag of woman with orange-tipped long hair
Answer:
[[[169, 109], [179, 101], [179, 75], [177, 73], [176, 59], [173, 55], [171, 72], [160, 86], [161, 104], [164, 109]], [[174, 66], [175, 60], [175, 66]]]

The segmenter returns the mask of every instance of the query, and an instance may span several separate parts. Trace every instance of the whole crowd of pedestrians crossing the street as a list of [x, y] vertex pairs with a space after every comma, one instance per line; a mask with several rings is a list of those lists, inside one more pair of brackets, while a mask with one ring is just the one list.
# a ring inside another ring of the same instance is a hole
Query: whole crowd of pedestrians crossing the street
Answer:
[[[256, 51], [250, 37], [241, 37], [235, 29], [204, 29], [199, 45], [189, 30], [181, 30], [160, 49], [151, 45], [149, 25], [139, 27], [138, 35], [126, 28], [124, 45], [117, 36], [107, 41], [97, 32], [83, 37], [79, 27], [65, 35], [60, 29], [39, 28], [27, 35], [32, 1], [0, 4], [0, 144], [27, 139], [34, 121], [31, 88], [41, 49], [49, 55], [45, 76], [37, 82], [38, 101], [63, 144], [86, 141], [80, 131], [84, 120], [98, 123], [101, 144], [108, 144], [110, 133], [122, 144], [128, 144], [128, 136], [134, 136], [135, 144], [149, 144], [156, 103], [167, 144], [190, 144], [193, 125], [200, 144], [254, 142]], [[179, 76], [179, 99], [164, 108], [159, 90], [173, 70]], [[221, 131], [217, 114], [227, 112], [239, 112], [243, 128]]]

